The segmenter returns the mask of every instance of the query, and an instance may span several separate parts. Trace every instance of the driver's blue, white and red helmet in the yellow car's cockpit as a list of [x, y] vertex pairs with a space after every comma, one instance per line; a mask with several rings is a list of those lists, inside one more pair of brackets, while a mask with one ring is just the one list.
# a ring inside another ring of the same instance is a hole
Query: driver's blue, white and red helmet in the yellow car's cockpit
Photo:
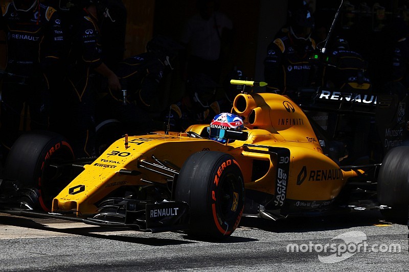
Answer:
[[220, 143], [226, 143], [227, 138], [225, 138], [226, 130], [241, 131], [244, 129], [243, 119], [240, 116], [223, 112], [217, 114], [209, 127], [209, 138]]

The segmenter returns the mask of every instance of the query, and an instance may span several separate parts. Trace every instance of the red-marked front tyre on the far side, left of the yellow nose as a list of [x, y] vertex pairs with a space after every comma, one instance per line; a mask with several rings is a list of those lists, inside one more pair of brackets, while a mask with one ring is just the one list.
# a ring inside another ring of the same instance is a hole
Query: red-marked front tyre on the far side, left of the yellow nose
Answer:
[[32, 131], [21, 135], [13, 144], [4, 166], [4, 178], [17, 180], [21, 190], [34, 190], [30, 195], [33, 208], [51, 211], [53, 198], [70, 182], [70, 170], [57, 164], [74, 159], [69, 143], [59, 134]]

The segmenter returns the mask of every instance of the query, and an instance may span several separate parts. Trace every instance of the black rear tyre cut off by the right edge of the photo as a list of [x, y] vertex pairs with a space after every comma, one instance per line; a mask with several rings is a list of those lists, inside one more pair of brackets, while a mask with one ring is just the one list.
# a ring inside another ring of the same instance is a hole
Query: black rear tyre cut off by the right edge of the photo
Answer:
[[377, 196], [381, 205], [392, 207], [383, 215], [407, 219], [409, 207], [409, 146], [397, 146], [383, 158], [378, 176]]

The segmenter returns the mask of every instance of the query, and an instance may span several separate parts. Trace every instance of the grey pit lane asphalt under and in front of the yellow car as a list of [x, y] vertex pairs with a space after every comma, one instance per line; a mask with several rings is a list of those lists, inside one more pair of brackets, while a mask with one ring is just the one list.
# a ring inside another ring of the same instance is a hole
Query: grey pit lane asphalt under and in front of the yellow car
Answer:
[[[332, 253], [313, 246], [342, 244], [346, 240], [339, 237], [350, 232], [363, 233], [369, 248], [399, 244], [400, 252], [351, 248], [351, 255], [338, 251], [336, 263], [319, 260]], [[197, 240], [183, 232], [152, 234], [0, 214], [0, 271], [407, 270], [407, 234], [407, 226], [384, 220], [378, 211], [282, 221], [245, 217], [222, 241]], [[311, 252], [297, 253], [287, 251], [289, 244], [304, 251], [306, 245], [313, 246]], [[349, 258], [339, 259], [343, 257]]]

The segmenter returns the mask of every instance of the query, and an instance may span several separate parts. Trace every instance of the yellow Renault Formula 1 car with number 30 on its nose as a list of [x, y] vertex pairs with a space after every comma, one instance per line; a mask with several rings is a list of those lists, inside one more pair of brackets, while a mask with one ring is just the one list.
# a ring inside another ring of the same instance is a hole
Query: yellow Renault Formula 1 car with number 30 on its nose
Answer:
[[[243, 130], [193, 125], [182, 133], [125, 135], [98, 158], [80, 160], [59, 135], [22, 135], [5, 165], [2, 210], [217, 238], [231, 235], [243, 215], [278, 219], [359, 206], [344, 202], [353, 192], [346, 190], [350, 181], [376, 189], [380, 163], [340, 166], [344, 154], [327, 154], [330, 140], [289, 97], [244, 91], [232, 112], [241, 117]], [[209, 139], [215, 128], [225, 143]], [[380, 175], [380, 194], [389, 200], [402, 199], [395, 185], [407, 189], [409, 147], [402, 148], [387, 156], [389, 166]], [[394, 166], [399, 160], [406, 165]], [[388, 184], [389, 175], [395, 185]]]

